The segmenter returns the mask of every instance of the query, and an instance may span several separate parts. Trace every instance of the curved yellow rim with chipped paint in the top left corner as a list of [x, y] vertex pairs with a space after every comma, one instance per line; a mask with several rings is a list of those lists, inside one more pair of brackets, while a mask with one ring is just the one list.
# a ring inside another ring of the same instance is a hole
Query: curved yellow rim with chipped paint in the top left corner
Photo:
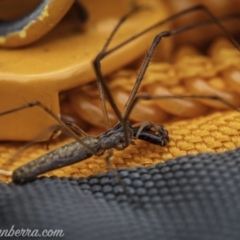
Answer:
[[[34, 1], [33, 1], [34, 2]], [[35, 1], [36, 2], [36, 1]], [[43, 2], [43, 1], [40, 1]], [[19, 47], [26, 46], [49, 32], [66, 14], [74, 0], [49, 0], [44, 4], [43, 11], [37, 19], [30, 21], [21, 31], [14, 31], [6, 36], [0, 36], [0, 46]], [[25, 6], [31, 3], [25, 2]], [[11, 5], [10, 5], [11, 4]], [[1, 3], [1, 12], [9, 11], [10, 6], [18, 8], [21, 3], [10, 1], [8, 4]]]

